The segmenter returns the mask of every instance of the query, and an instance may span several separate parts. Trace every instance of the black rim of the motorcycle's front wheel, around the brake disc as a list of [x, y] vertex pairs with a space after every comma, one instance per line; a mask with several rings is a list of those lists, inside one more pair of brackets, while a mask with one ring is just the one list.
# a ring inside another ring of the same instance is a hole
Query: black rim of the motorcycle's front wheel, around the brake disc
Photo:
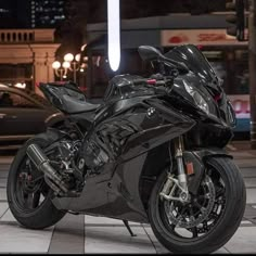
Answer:
[[[177, 218], [180, 217], [180, 219], [182, 219], [183, 222], [187, 221], [188, 223], [191, 223], [191, 227], [189, 228], [182, 227], [182, 225], [180, 226], [180, 222], [182, 221], [176, 223], [175, 221], [170, 220], [168, 207], [166, 207], [168, 203], [165, 200], [161, 200], [158, 196], [157, 217], [159, 222], [162, 223], [162, 228], [172, 239], [179, 240], [180, 242], [193, 242], [196, 240], [201, 240], [203, 236], [208, 235], [208, 233], [212, 232], [221, 220], [226, 209], [226, 190], [227, 190], [223, 182], [223, 178], [221, 177], [221, 174], [217, 169], [214, 169], [214, 167], [207, 168], [205, 177], [208, 177], [215, 187], [215, 200], [213, 202], [210, 212], [207, 215], [207, 218], [204, 219], [199, 225], [193, 226], [192, 225], [193, 220], [196, 219], [196, 217], [199, 218], [201, 214], [200, 208], [205, 207], [208, 203], [207, 196], [205, 196], [207, 190], [204, 187], [204, 184], [201, 184], [199, 193], [196, 195], [197, 199], [195, 202], [193, 201], [192, 196], [191, 204], [181, 204], [180, 202], [171, 202], [171, 203], [168, 202], [169, 204], [175, 204], [175, 207], [172, 206], [171, 209], [175, 209], [177, 214], [181, 216], [181, 217], [176, 216]], [[192, 217], [194, 217], [194, 219]]]

